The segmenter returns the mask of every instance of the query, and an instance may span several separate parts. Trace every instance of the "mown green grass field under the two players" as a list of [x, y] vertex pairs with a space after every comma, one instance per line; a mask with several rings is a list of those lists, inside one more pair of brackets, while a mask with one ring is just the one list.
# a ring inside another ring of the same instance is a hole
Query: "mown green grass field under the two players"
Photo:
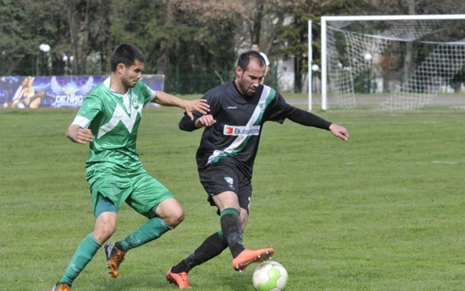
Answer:
[[[0, 290], [50, 290], [93, 229], [88, 146], [64, 136], [75, 113], [0, 110]], [[274, 247], [290, 291], [464, 290], [464, 110], [317, 113], [351, 139], [290, 121], [264, 126], [246, 247]], [[131, 250], [117, 279], [99, 251], [73, 291], [176, 290], [167, 269], [218, 230], [197, 178], [201, 131], [180, 131], [181, 116], [146, 109], [138, 150], [186, 220]], [[112, 239], [143, 222], [124, 206]], [[234, 272], [225, 251], [189, 274], [193, 290], [252, 291], [252, 272]]]

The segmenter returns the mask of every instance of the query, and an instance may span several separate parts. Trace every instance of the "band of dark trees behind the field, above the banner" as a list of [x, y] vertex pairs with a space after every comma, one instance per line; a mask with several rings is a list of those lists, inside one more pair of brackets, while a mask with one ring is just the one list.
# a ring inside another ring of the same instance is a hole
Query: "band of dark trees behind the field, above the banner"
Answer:
[[272, 64], [294, 60], [300, 92], [309, 19], [463, 12], [454, 0], [0, 0], [0, 75], [106, 75], [114, 47], [131, 42], [147, 57], [145, 74], [165, 75], [166, 91], [203, 93], [231, 80], [238, 54], [259, 42]]

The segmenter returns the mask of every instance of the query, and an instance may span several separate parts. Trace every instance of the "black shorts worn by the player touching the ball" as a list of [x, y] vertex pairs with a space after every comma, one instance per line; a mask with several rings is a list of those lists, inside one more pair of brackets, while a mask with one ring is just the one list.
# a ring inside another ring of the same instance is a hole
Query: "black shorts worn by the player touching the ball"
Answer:
[[212, 199], [214, 195], [232, 191], [239, 198], [239, 206], [249, 212], [252, 183], [236, 166], [219, 161], [203, 168], [199, 177], [211, 206], [216, 206]]

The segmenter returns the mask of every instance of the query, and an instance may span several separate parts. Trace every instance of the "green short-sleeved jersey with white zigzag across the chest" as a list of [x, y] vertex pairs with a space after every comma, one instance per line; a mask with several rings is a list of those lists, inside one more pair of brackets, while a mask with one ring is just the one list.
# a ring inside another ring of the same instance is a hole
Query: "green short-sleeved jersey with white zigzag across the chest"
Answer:
[[110, 81], [109, 77], [93, 88], [73, 121], [92, 130], [86, 168], [111, 163], [122, 169], [137, 169], [141, 166], [136, 138], [142, 108], [155, 97], [155, 91], [139, 80], [123, 95], [110, 89]]

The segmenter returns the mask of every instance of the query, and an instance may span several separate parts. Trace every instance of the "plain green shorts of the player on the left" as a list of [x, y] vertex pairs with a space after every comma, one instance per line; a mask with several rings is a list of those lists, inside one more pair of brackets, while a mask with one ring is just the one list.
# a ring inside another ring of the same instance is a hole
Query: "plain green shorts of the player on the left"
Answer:
[[93, 211], [97, 201], [107, 197], [119, 210], [126, 202], [147, 218], [155, 216], [152, 208], [174, 195], [141, 166], [128, 171], [115, 164], [99, 163], [86, 169]]

